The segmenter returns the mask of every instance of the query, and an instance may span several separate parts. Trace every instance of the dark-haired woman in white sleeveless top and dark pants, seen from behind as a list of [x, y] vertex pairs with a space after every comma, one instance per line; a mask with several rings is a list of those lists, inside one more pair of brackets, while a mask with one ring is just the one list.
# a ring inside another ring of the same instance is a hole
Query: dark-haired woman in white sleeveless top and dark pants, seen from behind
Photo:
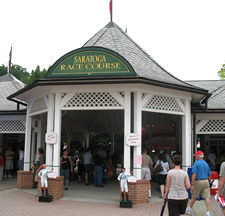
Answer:
[[185, 214], [188, 203], [188, 192], [191, 184], [187, 172], [181, 169], [182, 156], [174, 155], [175, 168], [170, 170], [166, 179], [166, 192], [164, 199], [168, 199], [169, 216]]

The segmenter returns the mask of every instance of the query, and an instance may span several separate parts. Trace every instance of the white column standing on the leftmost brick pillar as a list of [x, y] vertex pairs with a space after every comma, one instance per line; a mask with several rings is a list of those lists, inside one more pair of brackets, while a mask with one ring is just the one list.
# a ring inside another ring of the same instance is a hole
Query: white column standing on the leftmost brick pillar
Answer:
[[25, 148], [24, 148], [24, 171], [30, 171], [30, 150], [31, 150], [31, 133], [32, 133], [32, 117], [29, 116], [30, 107], [27, 107], [26, 116], [26, 134], [25, 134]]

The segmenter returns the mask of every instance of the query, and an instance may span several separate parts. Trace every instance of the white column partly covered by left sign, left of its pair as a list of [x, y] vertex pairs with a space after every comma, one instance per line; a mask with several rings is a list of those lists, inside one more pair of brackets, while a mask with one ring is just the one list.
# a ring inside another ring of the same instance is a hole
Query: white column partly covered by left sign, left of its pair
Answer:
[[[55, 98], [53, 94], [48, 95], [48, 114], [47, 114], [47, 133], [54, 131], [54, 114], [55, 114]], [[61, 137], [61, 136], [60, 136]], [[57, 137], [58, 139], [58, 137]], [[53, 144], [46, 143], [46, 160], [47, 168], [53, 165]]]

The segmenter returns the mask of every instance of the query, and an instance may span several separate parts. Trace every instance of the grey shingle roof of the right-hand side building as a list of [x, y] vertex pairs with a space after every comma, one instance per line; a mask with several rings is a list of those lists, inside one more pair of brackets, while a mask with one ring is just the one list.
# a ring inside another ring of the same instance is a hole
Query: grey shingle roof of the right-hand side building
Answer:
[[191, 80], [191, 85], [209, 90], [208, 109], [225, 109], [225, 80]]

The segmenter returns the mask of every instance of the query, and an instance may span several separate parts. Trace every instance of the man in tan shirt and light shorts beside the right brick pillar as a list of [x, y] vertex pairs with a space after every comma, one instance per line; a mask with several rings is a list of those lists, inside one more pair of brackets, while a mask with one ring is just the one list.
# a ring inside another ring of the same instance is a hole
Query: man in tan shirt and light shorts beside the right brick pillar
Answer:
[[152, 159], [147, 154], [147, 149], [143, 149], [142, 164], [141, 164], [141, 179], [149, 180], [149, 198], [151, 198], [151, 170], [152, 170]]

